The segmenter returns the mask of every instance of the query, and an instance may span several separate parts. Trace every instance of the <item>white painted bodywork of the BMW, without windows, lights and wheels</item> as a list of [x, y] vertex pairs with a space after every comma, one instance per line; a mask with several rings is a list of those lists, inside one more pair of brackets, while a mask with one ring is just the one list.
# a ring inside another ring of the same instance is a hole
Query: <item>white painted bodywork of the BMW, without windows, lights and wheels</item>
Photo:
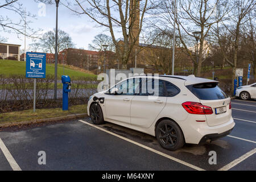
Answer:
[[[156, 100], [143, 100], [143, 98], [148, 96], [117, 96], [105, 94], [106, 91], [96, 93], [93, 96], [105, 97], [104, 104], [100, 104], [105, 121], [141, 131], [154, 137], [156, 123], [163, 118], [170, 118], [180, 126], [183, 131], [185, 143], [198, 144], [205, 135], [221, 134], [233, 129], [235, 123], [231, 115], [231, 110], [229, 109], [229, 97], [224, 100], [218, 100], [217, 102], [204, 101], [197, 98], [185, 86], [187, 84], [216, 81], [195, 77], [175, 77], [185, 78], [186, 80], [159, 77], [160, 80], [169, 81], [180, 89], [180, 93], [174, 97], [158, 97]], [[129, 101], [123, 101], [123, 98], [129, 98]], [[162, 103], [155, 103], [154, 101], [157, 100], [162, 101]], [[216, 115], [213, 109], [213, 114], [210, 116], [189, 114], [181, 105], [187, 101], [202, 102], [202, 104], [209, 105], [213, 108], [222, 106], [225, 101], [226, 113]], [[91, 98], [87, 106], [88, 115], [90, 114], [89, 108], [92, 102], [93, 100]]]

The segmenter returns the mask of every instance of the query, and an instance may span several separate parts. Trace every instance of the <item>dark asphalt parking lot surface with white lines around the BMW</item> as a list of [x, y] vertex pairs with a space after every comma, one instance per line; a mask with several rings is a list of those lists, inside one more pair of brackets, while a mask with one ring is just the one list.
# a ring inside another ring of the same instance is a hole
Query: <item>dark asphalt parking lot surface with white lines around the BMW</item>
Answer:
[[[232, 100], [236, 126], [211, 143], [161, 148], [154, 137], [89, 118], [0, 131], [0, 170], [256, 170], [256, 101]], [[38, 163], [39, 151], [46, 164]], [[215, 151], [217, 164], [209, 164]]]

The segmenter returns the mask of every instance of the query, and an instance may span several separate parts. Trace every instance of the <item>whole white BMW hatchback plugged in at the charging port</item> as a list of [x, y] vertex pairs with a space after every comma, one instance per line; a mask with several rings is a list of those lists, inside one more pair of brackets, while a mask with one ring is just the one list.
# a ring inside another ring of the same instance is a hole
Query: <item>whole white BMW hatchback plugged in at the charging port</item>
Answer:
[[232, 131], [230, 97], [217, 85], [193, 75], [135, 76], [91, 96], [87, 111], [97, 125], [108, 121], [141, 131], [177, 150]]

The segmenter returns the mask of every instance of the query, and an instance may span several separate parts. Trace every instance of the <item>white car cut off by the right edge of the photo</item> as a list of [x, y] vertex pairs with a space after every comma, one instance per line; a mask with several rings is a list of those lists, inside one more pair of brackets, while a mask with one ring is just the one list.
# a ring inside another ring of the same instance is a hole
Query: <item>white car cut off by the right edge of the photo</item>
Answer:
[[239, 86], [236, 89], [236, 96], [242, 100], [250, 100], [256, 98], [256, 83], [251, 85]]

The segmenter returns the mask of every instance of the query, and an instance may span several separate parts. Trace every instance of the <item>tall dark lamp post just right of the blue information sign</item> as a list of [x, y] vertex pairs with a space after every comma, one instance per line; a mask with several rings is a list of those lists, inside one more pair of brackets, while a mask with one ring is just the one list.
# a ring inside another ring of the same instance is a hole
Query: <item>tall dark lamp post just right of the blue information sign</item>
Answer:
[[56, 2], [56, 28], [55, 28], [55, 72], [54, 72], [54, 96], [57, 99], [57, 66], [58, 66], [58, 7], [60, 0], [55, 0]]

